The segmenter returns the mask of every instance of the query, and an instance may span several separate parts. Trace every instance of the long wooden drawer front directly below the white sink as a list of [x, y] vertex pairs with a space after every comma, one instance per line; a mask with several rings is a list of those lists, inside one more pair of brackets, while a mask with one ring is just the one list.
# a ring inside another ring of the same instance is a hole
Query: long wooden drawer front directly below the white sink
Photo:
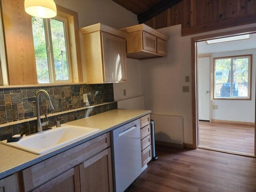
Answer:
[[106, 133], [22, 170], [25, 192], [52, 180], [109, 146], [110, 134]]

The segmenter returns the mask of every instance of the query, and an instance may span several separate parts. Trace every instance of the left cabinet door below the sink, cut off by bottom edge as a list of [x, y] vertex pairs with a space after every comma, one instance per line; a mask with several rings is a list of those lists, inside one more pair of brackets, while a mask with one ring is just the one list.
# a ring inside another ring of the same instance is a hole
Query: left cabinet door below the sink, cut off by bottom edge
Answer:
[[33, 192], [80, 192], [79, 166], [61, 174]]

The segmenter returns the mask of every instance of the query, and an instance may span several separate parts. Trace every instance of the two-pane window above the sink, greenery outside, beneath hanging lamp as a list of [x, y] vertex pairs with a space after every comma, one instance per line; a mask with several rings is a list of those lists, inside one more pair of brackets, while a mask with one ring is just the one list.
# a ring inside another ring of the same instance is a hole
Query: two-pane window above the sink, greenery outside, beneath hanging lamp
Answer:
[[32, 17], [38, 83], [72, 82], [68, 19]]

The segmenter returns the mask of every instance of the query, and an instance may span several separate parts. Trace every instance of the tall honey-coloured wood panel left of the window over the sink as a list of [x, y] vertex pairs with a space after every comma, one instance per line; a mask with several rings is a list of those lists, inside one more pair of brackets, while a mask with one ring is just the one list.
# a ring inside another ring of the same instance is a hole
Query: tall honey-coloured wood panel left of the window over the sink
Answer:
[[32, 22], [25, 12], [24, 0], [1, 3], [9, 84], [37, 84]]

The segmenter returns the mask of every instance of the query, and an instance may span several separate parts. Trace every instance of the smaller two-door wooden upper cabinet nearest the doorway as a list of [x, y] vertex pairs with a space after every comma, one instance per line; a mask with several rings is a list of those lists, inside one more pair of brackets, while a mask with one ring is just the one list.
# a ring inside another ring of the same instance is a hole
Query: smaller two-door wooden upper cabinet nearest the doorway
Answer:
[[127, 58], [147, 59], [166, 57], [166, 42], [169, 37], [157, 30], [140, 24], [121, 29], [127, 32]]

